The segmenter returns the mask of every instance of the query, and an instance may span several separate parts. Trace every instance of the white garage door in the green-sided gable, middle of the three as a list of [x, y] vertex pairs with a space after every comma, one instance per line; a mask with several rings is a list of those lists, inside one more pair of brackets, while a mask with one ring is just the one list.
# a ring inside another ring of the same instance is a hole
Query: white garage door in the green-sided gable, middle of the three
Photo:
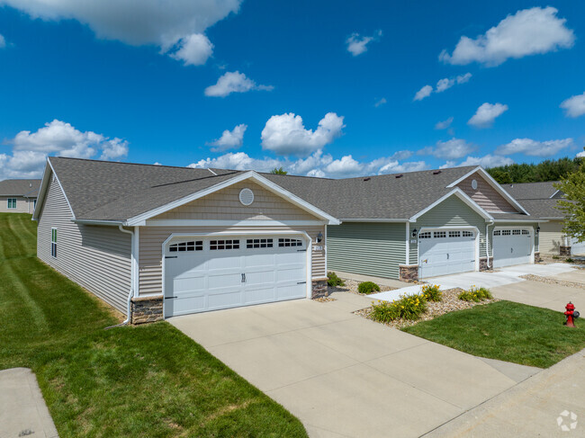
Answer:
[[475, 270], [475, 233], [464, 229], [419, 233], [419, 277]]

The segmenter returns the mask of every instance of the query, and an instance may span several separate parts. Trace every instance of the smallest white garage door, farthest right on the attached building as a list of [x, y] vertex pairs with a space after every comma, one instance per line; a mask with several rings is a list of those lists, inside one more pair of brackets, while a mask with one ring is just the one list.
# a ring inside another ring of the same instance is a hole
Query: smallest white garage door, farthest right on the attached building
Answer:
[[493, 232], [493, 265], [496, 268], [532, 261], [532, 234], [527, 229], [501, 228]]

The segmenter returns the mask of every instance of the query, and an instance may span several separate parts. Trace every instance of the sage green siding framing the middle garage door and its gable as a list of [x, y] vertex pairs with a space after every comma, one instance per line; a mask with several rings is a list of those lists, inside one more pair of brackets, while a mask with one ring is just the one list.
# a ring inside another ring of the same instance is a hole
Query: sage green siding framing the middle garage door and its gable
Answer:
[[[438, 204], [434, 209], [428, 210], [417, 221], [410, 224], [410, 229], [439, 227], [475, 227], [480, 232], [480, 258], [485, 257], [485, 219], [472, 210], [457, 196], [451, 196]], [[418, 241], [410, 244], [410, 261], [419, 264]], [[415, 258], [416, 257], [416, 258]]]

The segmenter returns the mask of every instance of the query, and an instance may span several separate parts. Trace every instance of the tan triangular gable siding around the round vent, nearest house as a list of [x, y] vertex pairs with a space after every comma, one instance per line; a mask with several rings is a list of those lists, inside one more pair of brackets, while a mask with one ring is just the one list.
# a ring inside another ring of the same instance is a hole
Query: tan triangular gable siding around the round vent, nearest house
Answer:
[[[244, 188], [254, 192], [254, 202], [249, 206], [239, 201], [239, 192]], [[257, 183], [245, 181], [167, 211], [154, 219], [316, 220], [318, 218], [275, 193], [267, 191]]]

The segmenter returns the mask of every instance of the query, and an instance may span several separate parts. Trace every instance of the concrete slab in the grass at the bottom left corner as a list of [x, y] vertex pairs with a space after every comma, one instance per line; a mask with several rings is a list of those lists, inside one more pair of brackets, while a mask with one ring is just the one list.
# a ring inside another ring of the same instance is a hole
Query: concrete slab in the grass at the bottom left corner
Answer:
[[0, 438], [58, 437], [39, 383], [28, 368], [0, 371]]

